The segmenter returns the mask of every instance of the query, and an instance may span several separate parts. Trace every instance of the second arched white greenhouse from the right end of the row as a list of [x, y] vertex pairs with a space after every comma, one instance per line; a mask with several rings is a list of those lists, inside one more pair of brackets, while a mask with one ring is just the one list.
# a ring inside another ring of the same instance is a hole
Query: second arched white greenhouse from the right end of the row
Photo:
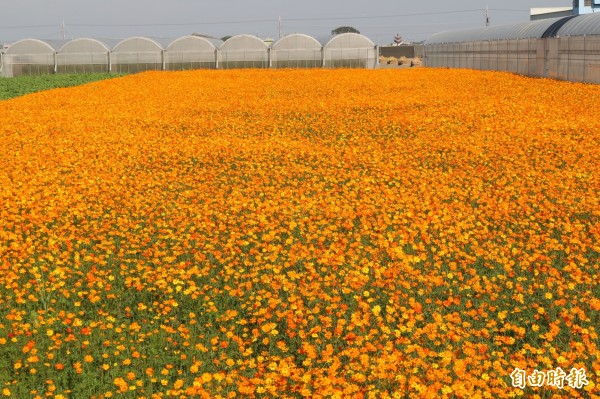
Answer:
[[271, 46], [272, 68], [321, 68], [323, 46], [301, 33], [284, 36]]

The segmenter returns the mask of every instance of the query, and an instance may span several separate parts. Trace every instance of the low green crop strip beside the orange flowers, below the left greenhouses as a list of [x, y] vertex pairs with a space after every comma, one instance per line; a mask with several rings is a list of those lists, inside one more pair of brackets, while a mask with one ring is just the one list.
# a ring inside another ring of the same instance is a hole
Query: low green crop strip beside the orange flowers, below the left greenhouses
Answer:
[[0, 78], [0, 100], [35, 93], [59, 87], [78, 86], [97, 80], [110, 79], [122, 75], [108, 73], [91, 74], [58, 74], [40, 76], [19, 76], [14, 78]]

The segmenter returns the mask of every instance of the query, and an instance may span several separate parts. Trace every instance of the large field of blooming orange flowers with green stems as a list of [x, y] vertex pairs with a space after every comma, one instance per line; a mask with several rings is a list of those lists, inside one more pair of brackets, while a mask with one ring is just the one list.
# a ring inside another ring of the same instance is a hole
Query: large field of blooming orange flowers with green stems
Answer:
[[427, 68], [0, 102], [0, 398], [598, 398], [599, 104]]

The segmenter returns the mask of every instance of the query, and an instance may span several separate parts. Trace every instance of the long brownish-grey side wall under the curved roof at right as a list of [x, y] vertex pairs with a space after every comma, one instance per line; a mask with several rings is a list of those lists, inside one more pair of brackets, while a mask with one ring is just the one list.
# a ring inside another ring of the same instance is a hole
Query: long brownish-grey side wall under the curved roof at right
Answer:
[[600, 36], [430, 44], [425, 46], [424, 62], [429, 67], [600, 83]]

